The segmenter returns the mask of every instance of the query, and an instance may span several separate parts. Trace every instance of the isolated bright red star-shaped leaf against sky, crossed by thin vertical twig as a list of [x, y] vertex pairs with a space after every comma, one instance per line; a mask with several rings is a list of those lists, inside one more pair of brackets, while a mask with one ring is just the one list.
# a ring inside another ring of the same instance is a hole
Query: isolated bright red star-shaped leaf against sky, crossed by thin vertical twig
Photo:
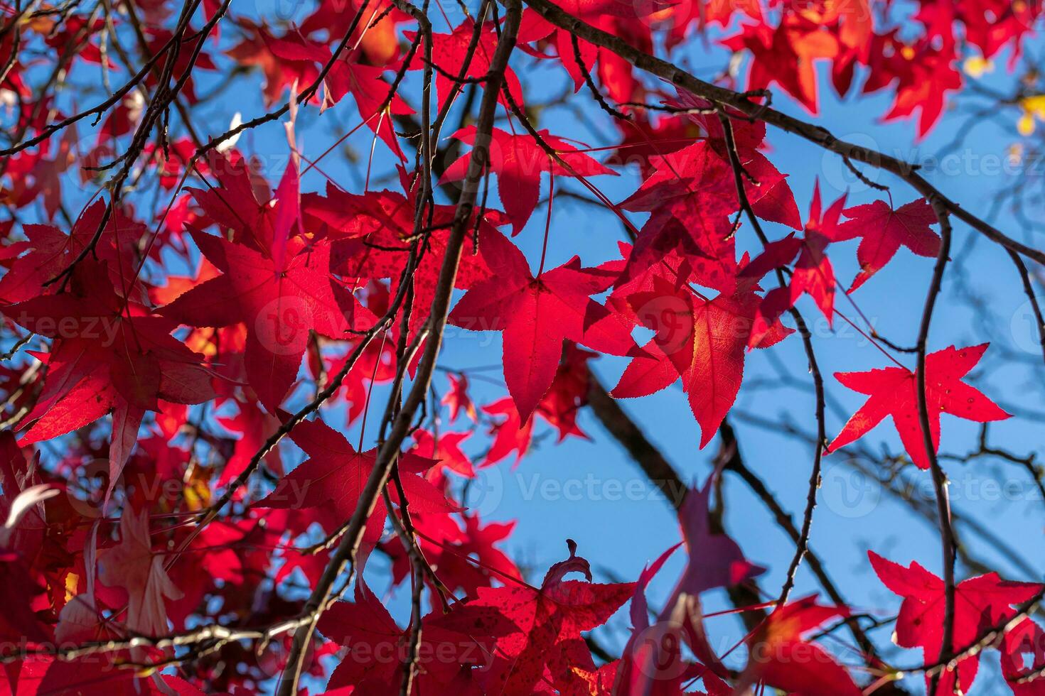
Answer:
[[[980, 391], [961, 381], [986, 351], [989, 343], [956, 349], [953, 345], [926, 356], [926, 408], [933, 446], [939, 448], [939, 414], [950, 413], [967, 421], [1003, 421], [1009, 414]], [[900, 440], [921, 469], [929, 467], [918, 408], [918, 381], [906, 367], [885, 367], [867, 373], [836, 373], [843, 385], [869, 399], [850, 417], [829, 451], [853, 442], [882, 422], [892, 417]]]

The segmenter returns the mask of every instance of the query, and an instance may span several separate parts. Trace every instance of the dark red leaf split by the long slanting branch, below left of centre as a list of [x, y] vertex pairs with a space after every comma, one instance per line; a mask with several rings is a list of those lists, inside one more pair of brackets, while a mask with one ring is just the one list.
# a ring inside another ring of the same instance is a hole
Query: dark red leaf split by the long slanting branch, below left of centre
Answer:
[[[322, 421], [304, 421], [291, 433], [291, 439], [304, 450], [308, 459], [276, 484], [276, 488], [257, 502], [261, 508], [311, 509], [309, 518], [320, 521], [328, 531], [352, 517], [367, 478], [376, 464], [377, 449], [357, 452], [345, 436]], [[432, 469], [435, 459], [411, 452], [399, 455], [398, 467], [403, 493], [412, 510], [449, 512], [454, 505], [419, 474]], [[392, 500], [399, 502], [392, 489]], [[375, 543], [385, 526], [385, 502], [378, 499], [367, 521], [364, 538]]]

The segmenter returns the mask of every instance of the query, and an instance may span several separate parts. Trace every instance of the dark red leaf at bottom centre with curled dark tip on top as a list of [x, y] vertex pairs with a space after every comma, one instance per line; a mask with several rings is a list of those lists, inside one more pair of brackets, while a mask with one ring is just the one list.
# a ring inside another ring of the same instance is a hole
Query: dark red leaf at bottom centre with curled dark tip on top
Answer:
[[[577, 688], [577, 668], [595, 671], [581, 631], [605, 623], [635, 584], [591, 582], [587, 560], [576, 555], [573, 541], [567, 545], [570, 557], [549, 569], [540, 587], [518, 581], [479, 587], [474, 600], [447, 617], [446, 627], [468, 633], [505, 619], [514, 626], [496, 639], [493, 663], [483, 675], [487, 693], [530, 694], [544, 680], [559, 690]], [[572, 572], [582, 573], [587, 581], [562, 579]]]

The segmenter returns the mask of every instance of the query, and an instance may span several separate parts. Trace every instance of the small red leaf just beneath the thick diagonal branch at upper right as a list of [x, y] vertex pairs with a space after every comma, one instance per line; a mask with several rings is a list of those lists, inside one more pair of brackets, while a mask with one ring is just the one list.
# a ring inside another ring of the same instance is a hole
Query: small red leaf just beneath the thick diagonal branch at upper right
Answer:
[[853, 292], [887, 264], [901, 245], [919, 256], [935, 257], [939, 254], [939, 237], [930, 225], [935, 224], [936, 214], [925, 198], [912, 200], [893, 210], [884, 200], [865, 206], [847, 208], [850, 218], [837, 226], [833, 241], [860, 237], [857, 260], [860, 272], [853, 280]]

